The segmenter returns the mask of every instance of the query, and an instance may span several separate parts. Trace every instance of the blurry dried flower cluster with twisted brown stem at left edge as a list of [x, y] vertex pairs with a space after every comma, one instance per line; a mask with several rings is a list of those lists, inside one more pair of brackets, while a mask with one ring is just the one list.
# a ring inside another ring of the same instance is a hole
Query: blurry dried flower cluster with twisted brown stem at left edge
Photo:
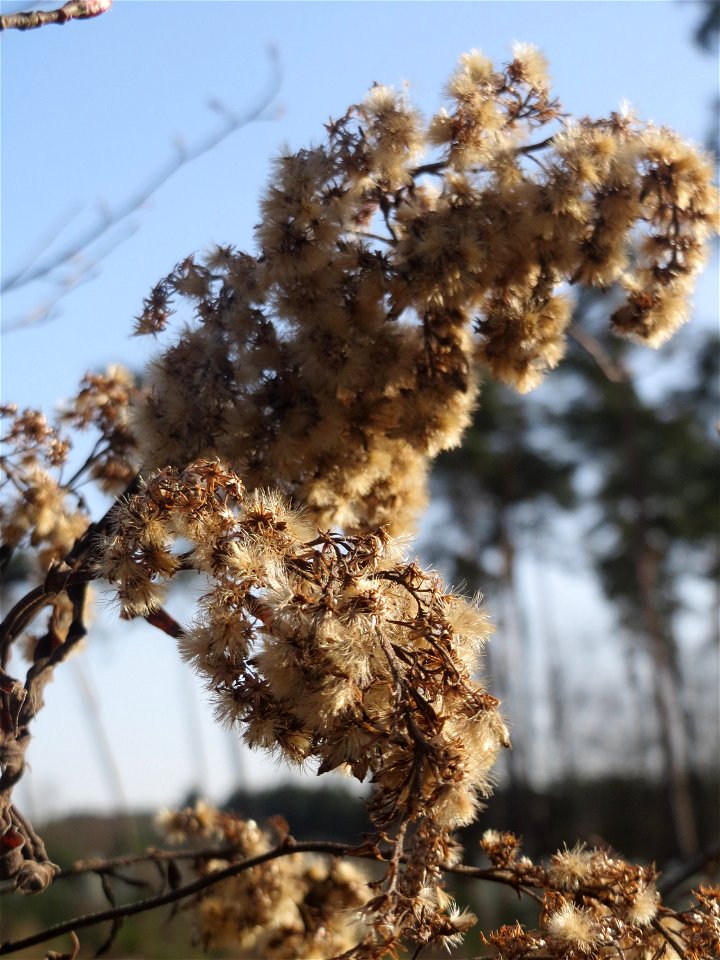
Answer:
[[[137, 469], [129, 429], [136, 395], [129, 374], [111, 367], [83, 378], [57, 425], [37, 410], [19, 411], [13, 404], [0, 408], [0, 583], [19, 550], [41, 584], [7, 611], [0, 625], [0, 879], [12, 880], [23, 893], [45, 889], [58, 872], [42, 840], [13, 806], [12, 791], [25, 770], [30, 728], [43, 707], [45, 685], [86, 633], [89, 583], [95, 579], [87, 563], [94, 527], [81, 486], [91, 479], [104, 492], [117, 493], [129, 485]], [[96, 432], [87, 454], [77, 445], [73, 451], [67, 427], [75, 434]], [[44, 608], [49, 608], [44, 631], [26, 632]], [[6, 672], [11, 645], [21, 637], [30, 664], [24, 683]]]

